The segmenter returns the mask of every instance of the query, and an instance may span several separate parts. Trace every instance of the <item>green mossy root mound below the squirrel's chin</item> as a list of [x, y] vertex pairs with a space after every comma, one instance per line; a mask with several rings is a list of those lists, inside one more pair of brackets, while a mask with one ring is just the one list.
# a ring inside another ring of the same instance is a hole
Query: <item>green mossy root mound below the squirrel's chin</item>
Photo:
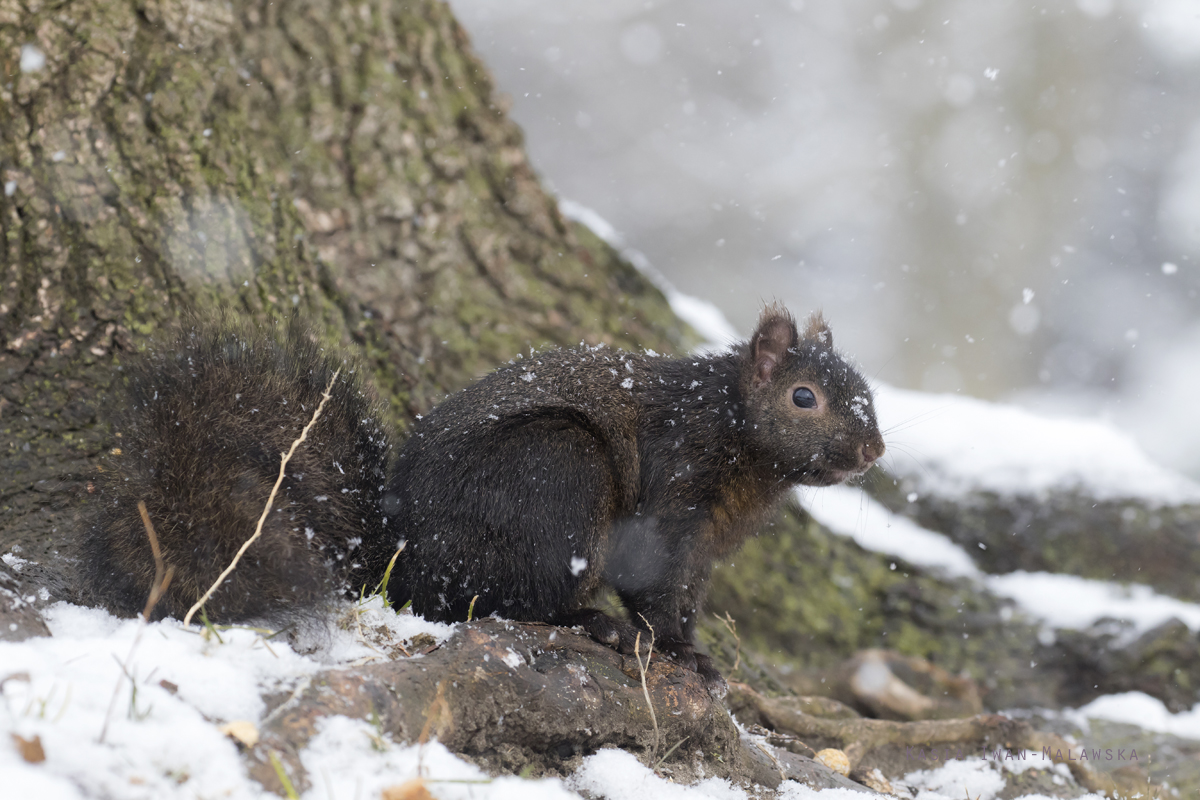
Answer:
[[[1038, 628], [1010, 602], [864, 551], [797, 509], [716, 569], [708, 607], [736, 620], [743, 662], [768, 690], [828, 693], [846, 658], [884, 648], [972, 678], [988, 708], [1055, 704], [1057, 678], [1034, 680], [1031, 664]], [[724, 622], [707, 619], [702, 638], [732, 667]]]

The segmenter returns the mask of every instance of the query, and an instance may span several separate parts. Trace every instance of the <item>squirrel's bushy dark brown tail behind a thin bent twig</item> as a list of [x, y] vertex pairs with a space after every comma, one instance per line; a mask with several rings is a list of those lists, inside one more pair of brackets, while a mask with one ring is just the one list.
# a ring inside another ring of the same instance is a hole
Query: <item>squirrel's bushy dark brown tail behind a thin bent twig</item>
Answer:
[[337, 369], [262, 537], [205, 608], [214, 620], [278, 619], [373, 585], [392, 549], [382, 510], [390, 438], [360, 369], [294, 320], [258, 329], [223, 319], [181, 330], [125, 367], [118, 447], [97, 481], [83, 543], [90, 600], [124, 615], [145, 606], [155, 560], [143, 500], [174, 566], [154, 616], [181, 619], [254, 533], [281, 453]]

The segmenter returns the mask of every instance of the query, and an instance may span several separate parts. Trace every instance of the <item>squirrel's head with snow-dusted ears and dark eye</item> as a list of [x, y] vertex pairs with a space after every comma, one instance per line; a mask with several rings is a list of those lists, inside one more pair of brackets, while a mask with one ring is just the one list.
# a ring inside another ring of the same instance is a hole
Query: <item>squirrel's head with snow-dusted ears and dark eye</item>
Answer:
[[740, 381], [756, 461], [779, 477], [832, 486], [883, 455], [866, 379], [834, 351], [820, 313], [800, 335], [782, 306], [764, 308], [745, 345]]

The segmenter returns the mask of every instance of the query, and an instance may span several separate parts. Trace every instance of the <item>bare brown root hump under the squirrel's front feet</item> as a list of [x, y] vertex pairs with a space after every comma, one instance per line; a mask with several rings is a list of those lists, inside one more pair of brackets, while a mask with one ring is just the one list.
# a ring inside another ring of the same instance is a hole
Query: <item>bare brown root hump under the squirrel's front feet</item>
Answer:
[[[420, 658], [329, 669], [294, 694], [275, 698], [246, 757], [254, 778], [280, 792], [270, 758], [277, 753], [304, 792], [310, 781], [299, 751], [319, 718], [344, 715], [376, 721], [397, 742], [436, 738], [494, 774], [565, 775], [601, 747], [641, 753], [656, 764], [680, 741], [660, 766], [676, 781], [715, 772], [745, 784], [774, 776], [778, 784], [780, 769], [811, 772], [780, 760], [774, 748], [764, 765], [696, 673], [655, 657], [646, 682], [653, 717], [632, 656], [551, 625], [485, 619], [461, 625]], [[785, 762], [793, 766], [781, 766]]]

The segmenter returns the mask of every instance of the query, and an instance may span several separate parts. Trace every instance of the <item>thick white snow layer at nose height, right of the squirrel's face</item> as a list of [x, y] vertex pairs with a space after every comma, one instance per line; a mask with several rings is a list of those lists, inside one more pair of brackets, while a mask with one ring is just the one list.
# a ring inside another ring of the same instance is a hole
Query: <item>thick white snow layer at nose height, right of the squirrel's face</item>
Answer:
[[876, 389], [875, 408], [888, 471], [938, 495], [1079, 488], [1098, 499], [1200, 503], [1200, 483], [1156, 464], [1133, 438], [1100, 420], [1054, 419], [892, 386]]

